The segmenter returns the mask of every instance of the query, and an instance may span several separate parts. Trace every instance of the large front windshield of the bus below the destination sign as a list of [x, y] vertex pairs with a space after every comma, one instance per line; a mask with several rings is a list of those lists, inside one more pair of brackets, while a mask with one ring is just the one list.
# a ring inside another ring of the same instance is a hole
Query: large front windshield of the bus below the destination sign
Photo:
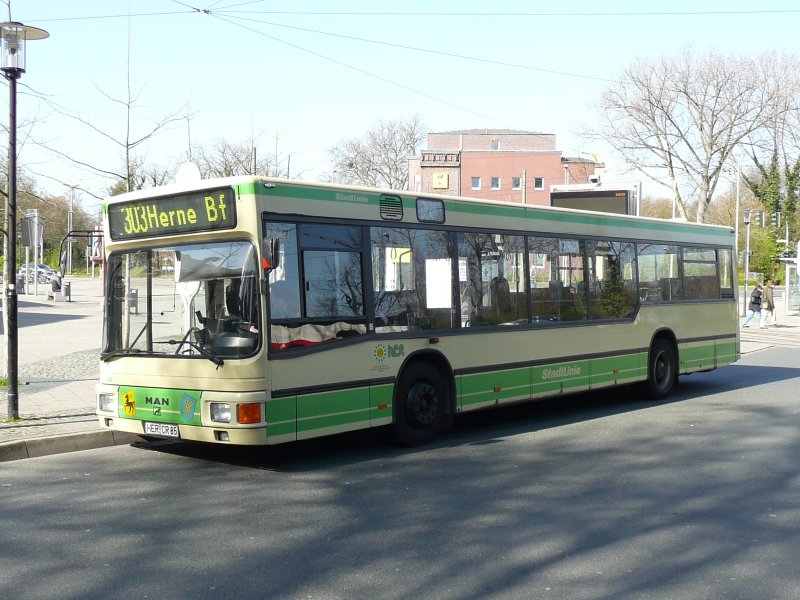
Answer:
[[108, 259], [103, 359], [136, 354], [208, 359], [260, 347], [255, 247], [170, 245]]

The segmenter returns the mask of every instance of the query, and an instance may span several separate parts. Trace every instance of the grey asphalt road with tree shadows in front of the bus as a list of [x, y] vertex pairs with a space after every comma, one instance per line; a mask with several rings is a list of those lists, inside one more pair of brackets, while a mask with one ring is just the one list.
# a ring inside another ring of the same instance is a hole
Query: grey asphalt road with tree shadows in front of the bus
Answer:
[[2, 598], [797, 598], [800, 353], [464, 415], [438, 443], [0, 466]]

